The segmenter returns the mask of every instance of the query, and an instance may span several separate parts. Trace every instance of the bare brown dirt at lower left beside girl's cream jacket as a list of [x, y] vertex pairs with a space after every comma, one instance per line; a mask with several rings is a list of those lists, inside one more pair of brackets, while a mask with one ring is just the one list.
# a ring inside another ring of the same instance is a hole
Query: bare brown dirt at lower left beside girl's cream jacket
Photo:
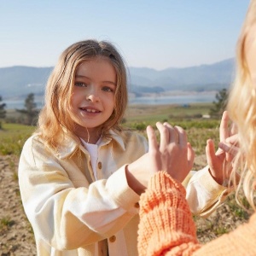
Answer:
[[1, 256], [36, 255], [32, 229], [20, 201], [18, 159], [0, 155], [0, 252]]

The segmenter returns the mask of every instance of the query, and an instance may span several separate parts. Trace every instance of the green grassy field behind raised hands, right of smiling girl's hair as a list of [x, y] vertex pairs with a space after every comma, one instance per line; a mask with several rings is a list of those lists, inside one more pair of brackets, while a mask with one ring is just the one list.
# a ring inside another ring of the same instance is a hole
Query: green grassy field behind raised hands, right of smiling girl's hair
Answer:
[[155, 128], [155, 123], [168, 122], [178, 125], [186, 130], [189, 143], [195, 150], [195, 154], [205, 154], [207, 139], [212, 138], [215, 147], [219, 142], [220, 119], [202, 119], [199, 116], [209, 113], [212, 104], [191, 104], [189, 108], [176, 105], [163, 106], [131, 106], [125, 113], [124, 126], [135, 131], [140, 131], [145, 137], [147, 125]]

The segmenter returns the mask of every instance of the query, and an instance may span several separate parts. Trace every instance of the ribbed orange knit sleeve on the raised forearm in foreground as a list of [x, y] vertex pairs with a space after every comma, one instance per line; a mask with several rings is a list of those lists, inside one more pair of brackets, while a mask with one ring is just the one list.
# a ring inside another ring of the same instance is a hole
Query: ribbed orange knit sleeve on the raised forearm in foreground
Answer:
[[167, 172], [151, 178], [140, 199], [140, 256], [190, 255], [201, 247], [185, 194], [183, 185]]

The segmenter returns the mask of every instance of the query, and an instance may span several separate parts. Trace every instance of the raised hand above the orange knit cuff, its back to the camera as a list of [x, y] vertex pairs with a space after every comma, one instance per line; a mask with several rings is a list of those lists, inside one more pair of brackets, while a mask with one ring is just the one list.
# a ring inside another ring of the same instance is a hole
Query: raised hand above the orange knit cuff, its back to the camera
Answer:
[[195, 153], [188, 143], [186, 132], [179, 126], [160, 122], [156, 123], [160, 131], [160, 143], [157, 143], [154, 130], [147, 127], [148, 154], [151, 157], [150, 166], [154, 172], [166, 171], [179, 182], [191, 170]]

